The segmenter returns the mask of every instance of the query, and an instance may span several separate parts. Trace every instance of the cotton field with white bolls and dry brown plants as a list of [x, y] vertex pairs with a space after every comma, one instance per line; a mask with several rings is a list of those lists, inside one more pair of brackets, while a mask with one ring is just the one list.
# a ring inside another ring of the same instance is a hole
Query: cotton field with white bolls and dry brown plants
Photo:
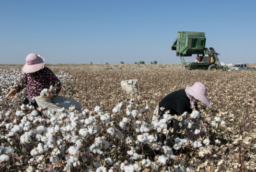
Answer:
[[[59, 95], [80, 102], [82, 113], [41, 107], [39, 116], [33, 106], [23, 105], [26, 90], [6, 99], [23, 74], [0, 69], [1, 172], [256, 169], [255, 71], [53, 71], [62, 82]], [[122, 90], [120, 82], [130, 79], [138, 80], [138, 94]], [[198, 103], [191, 114], [152, 119], [165, 95], [195, 82], [208, 88], [211, 106]], [[180, 126], [178, 133], [167, 127], [172, 121]]]

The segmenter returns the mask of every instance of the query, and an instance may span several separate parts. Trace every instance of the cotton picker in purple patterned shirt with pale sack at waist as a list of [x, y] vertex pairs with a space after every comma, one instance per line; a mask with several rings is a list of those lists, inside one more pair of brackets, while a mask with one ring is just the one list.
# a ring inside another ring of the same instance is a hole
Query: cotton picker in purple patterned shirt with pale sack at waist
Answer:
[[[82, 106], [77, 101], [58, 96], [61, 90], [60, 80], [51, 69], [45, 66], [45, 59], [42, 56], [34, 53], [29, 54], [22, 70], [23, 77], [8, 93], [8, 98], [14, 97], [16, 93], [21, 92], [28, 86], [24, 104], [33, 105], [35, 108], [47, 106], [49, 110], [57, 110], [64, 107], [67, 111], [69, 111], [69, 107], [72, 104], [76, 109], [81, 110]], [[50, 93], [47, 93], [46, 96], [41, 96], [40, 93], [44, 89], [50, 89]]]

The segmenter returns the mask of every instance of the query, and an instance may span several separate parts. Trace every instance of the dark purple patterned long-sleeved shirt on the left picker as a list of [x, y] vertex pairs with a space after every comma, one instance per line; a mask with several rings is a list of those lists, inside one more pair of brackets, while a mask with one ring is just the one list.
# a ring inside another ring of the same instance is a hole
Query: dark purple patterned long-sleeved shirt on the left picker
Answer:
[[51, 69], [45, 67], [34, 73], [24, 73], [23, 78], [15, 85], [14, 89], [20, 92], [28, 86], [27, 98], [31, 100], [33, 97], [40, 95], [45, 88], [49, 89], [52, 85], [50, 93], [56, 97], [61, 90], [61, 83]]

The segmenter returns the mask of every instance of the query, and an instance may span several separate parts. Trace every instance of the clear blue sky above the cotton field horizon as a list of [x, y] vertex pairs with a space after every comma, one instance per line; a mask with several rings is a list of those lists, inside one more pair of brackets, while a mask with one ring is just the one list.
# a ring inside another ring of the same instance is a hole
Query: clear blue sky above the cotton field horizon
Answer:
[[179, 64], [178, 31], [205, 32], [221, 62], [256, 62], [254, 0], [0, 0], [0, 64]]

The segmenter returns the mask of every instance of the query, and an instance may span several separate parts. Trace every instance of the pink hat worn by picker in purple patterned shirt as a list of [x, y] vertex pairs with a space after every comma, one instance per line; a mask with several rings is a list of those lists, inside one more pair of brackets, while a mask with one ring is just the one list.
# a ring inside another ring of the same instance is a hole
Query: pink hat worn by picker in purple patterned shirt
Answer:
[[30, 53], [26, 57], [26, 64], [23, 66], [22, 71], [24, 73], [34, 73], [38, 70], [41, 70], [45, 67], [45, 59], [36, 55], [35, 53]]

